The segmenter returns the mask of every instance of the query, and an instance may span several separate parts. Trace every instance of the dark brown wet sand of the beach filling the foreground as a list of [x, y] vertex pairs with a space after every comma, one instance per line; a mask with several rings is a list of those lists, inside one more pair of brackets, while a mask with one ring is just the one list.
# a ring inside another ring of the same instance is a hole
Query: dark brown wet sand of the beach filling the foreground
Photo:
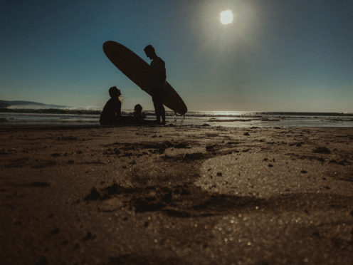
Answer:
[[352, 264], [353, 128], [0, 131], [1, 264]]

